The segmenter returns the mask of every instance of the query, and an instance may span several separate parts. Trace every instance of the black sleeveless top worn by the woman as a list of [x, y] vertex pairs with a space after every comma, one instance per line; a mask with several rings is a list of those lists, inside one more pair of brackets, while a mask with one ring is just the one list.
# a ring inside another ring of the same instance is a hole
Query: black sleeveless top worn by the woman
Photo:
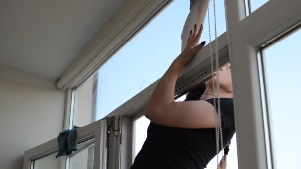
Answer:
[[[214, 99], [206, 101], [213, 105]], [[226, 145], [235, 133], [233, 99], [221, 98], [220, 106]], [[216, 155], [215, 138], [215, 128], [184, 129], [151, 122], [131, 169], [203, 169]]]

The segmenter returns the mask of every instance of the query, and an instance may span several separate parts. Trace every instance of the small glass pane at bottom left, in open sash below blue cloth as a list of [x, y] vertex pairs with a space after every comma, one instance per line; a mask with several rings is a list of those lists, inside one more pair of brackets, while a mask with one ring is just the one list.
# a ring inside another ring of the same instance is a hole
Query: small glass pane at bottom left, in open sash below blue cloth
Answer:
[[56, 154], [35, 160], [34, 169], [59, 169], [59, 158], [55, 158]]

